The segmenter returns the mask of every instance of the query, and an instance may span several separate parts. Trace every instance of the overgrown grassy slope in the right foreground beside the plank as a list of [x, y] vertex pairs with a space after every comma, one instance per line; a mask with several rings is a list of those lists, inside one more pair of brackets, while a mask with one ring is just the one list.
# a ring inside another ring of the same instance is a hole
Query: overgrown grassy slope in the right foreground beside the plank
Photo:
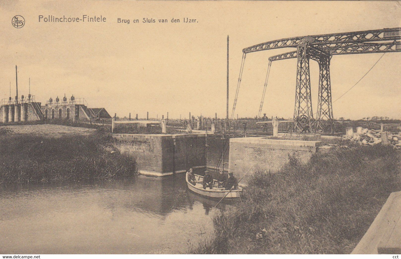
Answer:
[[400, 162], [392, 147], [338, 147], [256, 173], [239, 207], [215, 218], [215, 237], [191, 253], [350, 253], [401, 191]]

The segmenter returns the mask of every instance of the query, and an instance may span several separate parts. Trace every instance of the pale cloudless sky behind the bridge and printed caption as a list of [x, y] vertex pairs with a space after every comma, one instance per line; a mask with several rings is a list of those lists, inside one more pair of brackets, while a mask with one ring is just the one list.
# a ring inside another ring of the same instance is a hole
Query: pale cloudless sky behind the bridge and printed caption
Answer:
[[[14, 28], [12, 17], [25, 19]], [[38, 16], [102, 16], [106, 22], [38, 22]], [[183, 23], [183, 18], [196, 23]], [[117, 23], [130, 19], [130, 24]], [[142, 23], [154, 18], [156, 23]], [[167, 19], [166, 24], [158, 19]], [[172, 18], [180, 23], [173, 24]], [[132, 23], [139, 19], [139, 24]], [[73, 94], [113, 116], [225, 117], [226, 51], [230, 36], [230, 103], [233, 107], [242, 49], [282, 38], [401, 27], [396, 1], [0, 1], [0, 96], [31, 94], [45, 103]], [[247, 55], [235, 114], [256, 116], [268, 57], [282, 48]], [[338, 55], [331, 60], [333, 101], [351, 88], [382, 54]], [[401, 53], [387, 53], [367, 76], [333, 104], [334, 118], [401, 119]], [[318, 64], [310, 61], [316, 112]], [[273, 62], [263, 113], [292, 118], [296, 59]]]

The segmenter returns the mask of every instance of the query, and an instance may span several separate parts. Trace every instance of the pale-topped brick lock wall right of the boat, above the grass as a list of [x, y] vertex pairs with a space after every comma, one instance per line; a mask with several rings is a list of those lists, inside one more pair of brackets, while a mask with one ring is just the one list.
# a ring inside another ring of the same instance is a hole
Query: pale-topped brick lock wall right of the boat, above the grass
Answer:
[[[318, 150], [320, 141], [292, 141], [245, 137], [230, 139], [229, 172], [240, 179], [253, 165], [262, 170], [278, 171], [289, 162], [289, 155], [306, 163]], [[253, 171], [253, 169], [251, 170]], [[250, 173], [241, 183], [245, 183]]]

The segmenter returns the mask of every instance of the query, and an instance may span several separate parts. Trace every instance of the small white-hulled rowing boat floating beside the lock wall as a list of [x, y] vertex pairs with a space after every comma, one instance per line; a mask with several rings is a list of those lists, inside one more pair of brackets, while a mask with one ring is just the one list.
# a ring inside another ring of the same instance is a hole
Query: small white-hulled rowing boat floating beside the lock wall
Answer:
[[188, 189], [193, 191], [194, 193], [198, 193], [200, 195], [204, 195], [207, 197], [212, 197], [212, 198], [223, 198], [227, 193], [227, 196], [225, 199], [235, 199], [239, 198], [241, 193], [242, 193], [242, 188], [238, 187], [238, 189], [231, 190], [226, 190], [225, 188], [219, 188], [218, 187], [218, 181], [213, 179], [213, 189], [209, 189], [209, 187], [206, 187], [206, 189], [203, 189], [203, 176], [202, 175], [195, 175], [195, 180], [196, 180], [196, 185], [192, 185], [192, 183], [189, 182], [188, 180], [188, 172], [186, 173], [185, 176], [186, 184], [188, 185]]

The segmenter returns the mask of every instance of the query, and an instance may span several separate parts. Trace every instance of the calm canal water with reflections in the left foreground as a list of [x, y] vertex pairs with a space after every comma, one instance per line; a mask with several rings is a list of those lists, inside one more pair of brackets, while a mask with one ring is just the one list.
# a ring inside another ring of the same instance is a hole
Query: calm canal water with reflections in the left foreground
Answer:
[[0, 187], [0, 253], [187, 253], [231, 205], [191, 193], [185, 174]]

